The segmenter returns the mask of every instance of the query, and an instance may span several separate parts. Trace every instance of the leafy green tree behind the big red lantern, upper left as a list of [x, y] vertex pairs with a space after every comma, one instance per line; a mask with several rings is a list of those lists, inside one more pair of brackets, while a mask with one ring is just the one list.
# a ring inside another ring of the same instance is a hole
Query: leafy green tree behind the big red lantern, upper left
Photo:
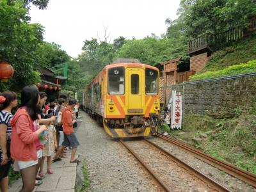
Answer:
[[0, 84], [0, 91], [13, 90], [38, 82], [37, 71], [42, 63], [37, 49], [42, 43], [43, 27], [29, 24], [28, 10], [22, 1], [8, 5], [0, 2], [0, 60], [8, 61], [15, 74], [8, 83]]

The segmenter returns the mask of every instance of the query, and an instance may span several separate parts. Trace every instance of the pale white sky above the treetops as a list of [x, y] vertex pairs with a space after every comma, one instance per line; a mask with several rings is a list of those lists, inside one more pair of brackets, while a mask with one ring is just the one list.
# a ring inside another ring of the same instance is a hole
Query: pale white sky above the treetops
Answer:
[[166, 33], [165, 20], [177, 19], [180, 0], [50, 0], [45, 10], [31, 6], [31, 23], [44, 26], [44, 40], [76, 58], [84, 40], [141, 39]]

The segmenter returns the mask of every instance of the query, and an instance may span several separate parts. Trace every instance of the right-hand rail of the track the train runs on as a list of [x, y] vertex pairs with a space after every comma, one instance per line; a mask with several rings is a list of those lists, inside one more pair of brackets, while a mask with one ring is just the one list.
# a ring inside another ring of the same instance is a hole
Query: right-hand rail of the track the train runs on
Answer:
[[193, 168], [189, 164], [185, 163], [184, 161], [173, 156], [172, 154], [170, 154], [170, 152], [166, 151], [164, 148], [160, 147], [159, 145], [156, 145], [156, 143], [153, 143], [152, 141], [149, 141], [147, 139], [145, 139], [145, 141], [147, 141], [154, 147], [156, 147], [159, 150], [161, 150], [162, 152], [164, 152], [164, 154], [166, 154], [168, 157], [170, 157], [172, 159], [172, 161], [174, 161], [177, 164], [180, 164], [184, 169], [188, 170], [188, 172], [193, 173], [193, 175], [195, 175], [199, 179], [203, 180], [205, 183], [210, 184], [212, 186], [212, 188], [216, 189], [217, 191], [230, 191], [230, 189], [228, 189], [227, 187], [223, 186], [216, 180], [211, 179], [211, 177], [205, 175], [204, 173], [196, 170], [195, 168]]

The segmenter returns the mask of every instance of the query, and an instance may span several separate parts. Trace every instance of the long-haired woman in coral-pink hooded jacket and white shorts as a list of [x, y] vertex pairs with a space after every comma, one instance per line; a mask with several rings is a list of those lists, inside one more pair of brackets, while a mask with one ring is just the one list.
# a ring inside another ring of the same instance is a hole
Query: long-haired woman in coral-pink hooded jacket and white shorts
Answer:
[[20, 108], [17, 110], [11, 125], [13, 127], [11, 141], [11, 157], [15, 159], [22, 176], [24, 191], [33, 191], [35, 188], [36, 166], [38, 157], [35, 141], [39, 134], [47, 128], [40, 126], [35, 131], [34, 121], [38, 118], [36, 115], [36, 104], [39, 102], [39, 92], [36, 86], [26, 86], [22, 89]]

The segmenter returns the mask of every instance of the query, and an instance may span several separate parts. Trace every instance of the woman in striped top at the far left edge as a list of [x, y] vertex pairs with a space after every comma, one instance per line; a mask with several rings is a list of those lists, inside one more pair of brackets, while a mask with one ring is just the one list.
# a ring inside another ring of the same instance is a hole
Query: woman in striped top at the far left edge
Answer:
[[11, 167], [10, 143], [12, 127], [12, 108], [17, 106], [17, 95], [14, 92], [0, 94], [0, 189], [8, 191], [8, 173]]

